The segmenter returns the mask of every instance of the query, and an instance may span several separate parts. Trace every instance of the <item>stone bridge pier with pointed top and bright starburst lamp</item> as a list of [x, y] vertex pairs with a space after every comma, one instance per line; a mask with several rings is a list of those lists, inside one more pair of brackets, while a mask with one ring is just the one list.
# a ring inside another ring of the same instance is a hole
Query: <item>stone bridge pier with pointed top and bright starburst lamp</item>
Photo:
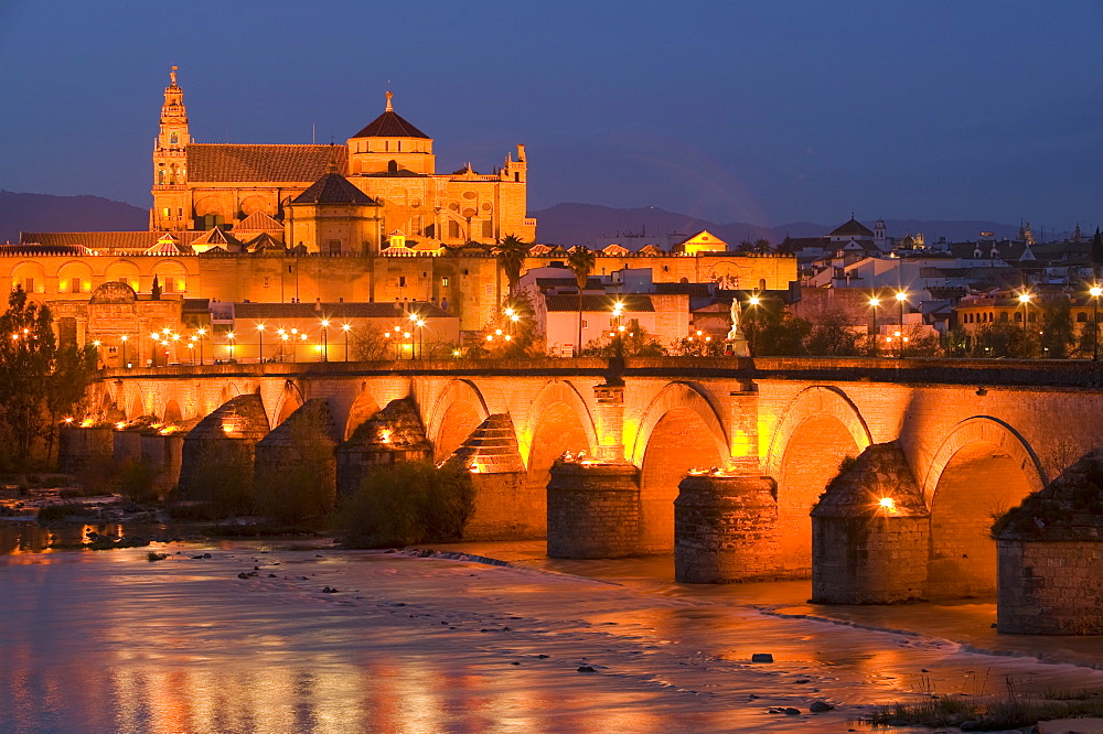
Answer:
[[921, 598], [930, 536], [930, 511], [899, 445], [868, 446], [812, 510], [812, 601]]

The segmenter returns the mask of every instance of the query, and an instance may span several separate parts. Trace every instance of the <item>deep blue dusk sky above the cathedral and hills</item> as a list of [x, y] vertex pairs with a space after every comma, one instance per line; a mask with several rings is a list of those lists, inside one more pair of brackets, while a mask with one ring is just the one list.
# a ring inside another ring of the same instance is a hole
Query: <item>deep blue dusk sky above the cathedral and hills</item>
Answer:
[[533, 211], [1094, 229], [1101, 29], [1100, 2], [0, 0], [0, 187], [148, 207], [176, 64], [199, 142], [343, 143], [389, 85], [438, 171], [525, 143]]

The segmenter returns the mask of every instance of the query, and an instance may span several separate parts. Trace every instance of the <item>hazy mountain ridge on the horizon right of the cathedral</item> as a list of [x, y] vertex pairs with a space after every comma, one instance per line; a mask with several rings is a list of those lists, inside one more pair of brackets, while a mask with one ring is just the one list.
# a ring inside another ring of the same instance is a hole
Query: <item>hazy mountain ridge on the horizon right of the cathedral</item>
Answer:
[[[689, 236], [702, 229], [732, 245], [745, 239], [756, 240], [760, 237], [777, 245], [786, 235], [790, 237], [818, 237], [843, 224], [839, 219], [831, 224], [813, 224], [810, 222], [793, 222], [777, 227], [761, 227], [742, 222], [718, 223], [698, 219], [687, 214], [667, 212], [654, 206], [633, 209], [615, 209], [593, 204], [556, 204], [531, 216], [537, 217], [536, 238], [548, 245], [586, 245], [588, 247], [604, 247], [614, 238], [629, 237], [643, 240], [663, 238], [666, 235]], [[866, 222], [872, 228], [874, 222]], [[923, 233], [928, 244], [945, 237], [949, 241], [975, 240], [978, 233], [993, 231], [996, 237], [1016, 237], [1018, 227], [998, 222], [942, 222], [933, 219], [886, 219], [885, 226], [889, 237]], [[681, 237], [670, 237], [672, 241]]]

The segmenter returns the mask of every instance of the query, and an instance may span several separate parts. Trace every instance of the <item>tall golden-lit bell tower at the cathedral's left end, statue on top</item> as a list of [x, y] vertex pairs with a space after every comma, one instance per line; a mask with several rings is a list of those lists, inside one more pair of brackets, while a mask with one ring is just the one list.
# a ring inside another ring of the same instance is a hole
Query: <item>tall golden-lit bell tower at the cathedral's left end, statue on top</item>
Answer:
[[176, 84], [176, 67], [169, 72], [161, 106], [161, 129], [153, 143], [153, 211], [150, 229], [191, 228], [191, 203], [188, 201], [188, 110], [184, 90]]

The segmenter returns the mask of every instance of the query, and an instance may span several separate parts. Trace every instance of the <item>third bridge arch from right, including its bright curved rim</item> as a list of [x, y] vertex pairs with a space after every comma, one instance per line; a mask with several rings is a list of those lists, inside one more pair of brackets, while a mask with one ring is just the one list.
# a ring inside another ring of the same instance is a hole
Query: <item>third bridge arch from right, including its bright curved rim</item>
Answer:
[[632, 449], [640, 467], [640, 548], [660, 553], [674, 547], [674, 500], [695, 467], [727, 466], [731, 452], [720, 413], [692, 382], [660, 390], [643, 413]]

